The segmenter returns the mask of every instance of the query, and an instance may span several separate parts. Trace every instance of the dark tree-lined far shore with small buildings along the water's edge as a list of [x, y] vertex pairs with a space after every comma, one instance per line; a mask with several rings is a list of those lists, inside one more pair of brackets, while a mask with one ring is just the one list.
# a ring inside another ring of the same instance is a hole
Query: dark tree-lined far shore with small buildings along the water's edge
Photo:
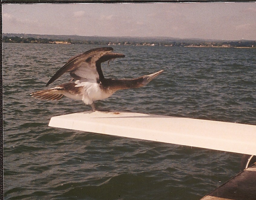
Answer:
[[[146, 39], [145, 39], [146, 40]], [[53, 40], [46, 38], [34, 38], [34, 37], [3, 37], [3, 42], [6, 43], [38, 43], [38, 44], [52, 44], [52, 43], [66, 43], [66, 44], [93, 44], [93, 45], [136, 45], [136, 46], [173, 46], [173, 47], [256, 47], [256, 41], [253, 40], [239, 40], [239, 41], [223, 41], [223, 42], [176, 42], [176, 41], [166, 41], [166, 42], [154, 42], [154, 41], [136, 41], [133, 39], [129, 40], [119, 40], [119, 39], [109, 39], [105, 40], [101, 37], [94, 38], [93, 40], [72, 40], [68, 38], [67, 40]]]

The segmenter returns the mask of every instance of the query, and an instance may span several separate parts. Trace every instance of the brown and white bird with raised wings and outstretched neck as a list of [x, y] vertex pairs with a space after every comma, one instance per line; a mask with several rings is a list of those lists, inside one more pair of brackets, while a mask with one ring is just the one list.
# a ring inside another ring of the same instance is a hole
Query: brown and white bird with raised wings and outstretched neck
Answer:
[[164, 71], [160, 70], [156, 73], [134, 79], [105, 78], [102, 73], [101, 63], [125, 57], [122, 53], [113, 53], [112, 51], [112, 47], [100, 47], [70, 58], [50, 78], [46, 86], [67, 72], [71, 76], [70, 82], [50, 89], [32, 92], [30, 95], [45, 100], [59, 100], [66, 96], [75, 100], [81, 100], [86, 105], [91, 105], [92, 111], [102, 111], [96, 109], [95, 101], [109, 98], [118, 90], [139, 88], [147, 85], [147, 83]]

